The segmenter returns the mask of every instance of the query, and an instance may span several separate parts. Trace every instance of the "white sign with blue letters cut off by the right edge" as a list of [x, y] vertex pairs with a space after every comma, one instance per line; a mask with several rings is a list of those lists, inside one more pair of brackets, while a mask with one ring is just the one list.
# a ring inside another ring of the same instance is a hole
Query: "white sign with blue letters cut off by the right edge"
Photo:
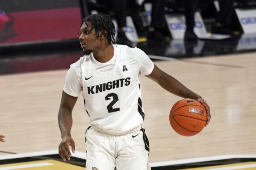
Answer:
[[256, 9], [236, 9], [236, 14], [244, 33], [256, 33]]

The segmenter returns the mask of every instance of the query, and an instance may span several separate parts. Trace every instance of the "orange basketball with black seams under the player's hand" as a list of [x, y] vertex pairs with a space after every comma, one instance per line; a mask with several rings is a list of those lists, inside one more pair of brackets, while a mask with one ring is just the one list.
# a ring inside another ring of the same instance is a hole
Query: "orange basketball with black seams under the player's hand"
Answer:
[[173, 105], [169, 120], [175, 132], [189, 137], [203, 130], [207, 113], [199, 101], [186, 98]]

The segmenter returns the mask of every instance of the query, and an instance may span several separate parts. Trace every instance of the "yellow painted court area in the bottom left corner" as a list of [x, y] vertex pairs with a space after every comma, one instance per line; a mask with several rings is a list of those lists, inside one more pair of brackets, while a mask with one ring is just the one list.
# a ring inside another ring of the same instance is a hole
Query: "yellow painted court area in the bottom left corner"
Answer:
[[14, 164], [5, 164], [0, 165], [0, 170], [84, 170], [84, 167], [71, 165], [68, 163], [59, 162], [57, 160], [36, 160], [25, 163], [14, 163]]

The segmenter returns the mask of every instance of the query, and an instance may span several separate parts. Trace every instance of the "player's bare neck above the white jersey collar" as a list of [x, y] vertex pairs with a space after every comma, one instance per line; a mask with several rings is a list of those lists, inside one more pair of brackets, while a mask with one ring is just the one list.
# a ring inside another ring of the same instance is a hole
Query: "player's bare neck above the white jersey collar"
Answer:
[[94, 58], [101, 63], [106, 63], [114, 56], [114, 47], [113, 45], [107, 45], [104, 48], [93, 52]]

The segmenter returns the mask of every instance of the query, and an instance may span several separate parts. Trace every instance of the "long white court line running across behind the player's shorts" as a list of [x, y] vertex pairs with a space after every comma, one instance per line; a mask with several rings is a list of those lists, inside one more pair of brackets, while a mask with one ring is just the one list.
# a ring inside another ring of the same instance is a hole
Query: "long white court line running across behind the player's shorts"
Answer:
[[[55, 154], [59, 154], [58, 150], [27, 152], [27, 153], [22, 153], [22, 154], [15, 154], [15, 155], [2, 155], [2, 156], [0, 156], [0, 160], [24, 158], [24, 157], [35, 157], [35, 156], [45, 156], [45, 155], [55, 155]], [[75, 151], [75, 154], [72, 154], [72, 156], [86, 160], [86, 154], [81, 151]], [[256, 155], [219, 155], [219, 156], [198, 157], [198, 158], [190, 158], [190, 159], [176, 159], [176, 160], [165, 161], [165, 162], [149, 163], [149, 165], [151, 167], [159, 167], [159, 166], [180, 165], [180, 164], [208, 162], [208, 161], [213, 161], [213, 160], [235, 159], [235, 158], [256, 158]]]

